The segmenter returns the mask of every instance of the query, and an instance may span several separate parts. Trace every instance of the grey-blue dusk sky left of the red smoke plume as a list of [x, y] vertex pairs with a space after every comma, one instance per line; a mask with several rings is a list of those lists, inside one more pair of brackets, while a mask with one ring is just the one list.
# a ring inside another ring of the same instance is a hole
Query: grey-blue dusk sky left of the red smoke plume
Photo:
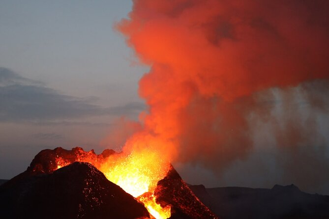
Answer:
[[[0, 2], [0, 178], [24, 171], [42, 149], [100, 153], [120, 119], [145, 109], [148, 71], [114, 29], [132, 2]], [[8, 86], [11, 85], [11, 86]]]

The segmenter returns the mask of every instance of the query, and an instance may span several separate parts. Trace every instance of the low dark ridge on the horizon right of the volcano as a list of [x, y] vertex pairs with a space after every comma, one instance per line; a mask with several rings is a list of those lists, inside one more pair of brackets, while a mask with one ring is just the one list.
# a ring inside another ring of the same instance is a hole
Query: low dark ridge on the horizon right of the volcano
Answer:
[[301, 192], [295, 185], [272, 189], [189, 187], [221, 219], [329, 219], [329, 196]]

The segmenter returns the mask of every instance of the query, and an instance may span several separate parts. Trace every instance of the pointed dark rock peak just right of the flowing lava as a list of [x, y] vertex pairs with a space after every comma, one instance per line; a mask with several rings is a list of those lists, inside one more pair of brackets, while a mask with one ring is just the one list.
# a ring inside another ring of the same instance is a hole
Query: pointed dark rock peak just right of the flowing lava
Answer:
[[154, 195], [162, 207], [171, 205], [171, 219], [217, 219], [188, 188], [173, 166], [158, 182]]

